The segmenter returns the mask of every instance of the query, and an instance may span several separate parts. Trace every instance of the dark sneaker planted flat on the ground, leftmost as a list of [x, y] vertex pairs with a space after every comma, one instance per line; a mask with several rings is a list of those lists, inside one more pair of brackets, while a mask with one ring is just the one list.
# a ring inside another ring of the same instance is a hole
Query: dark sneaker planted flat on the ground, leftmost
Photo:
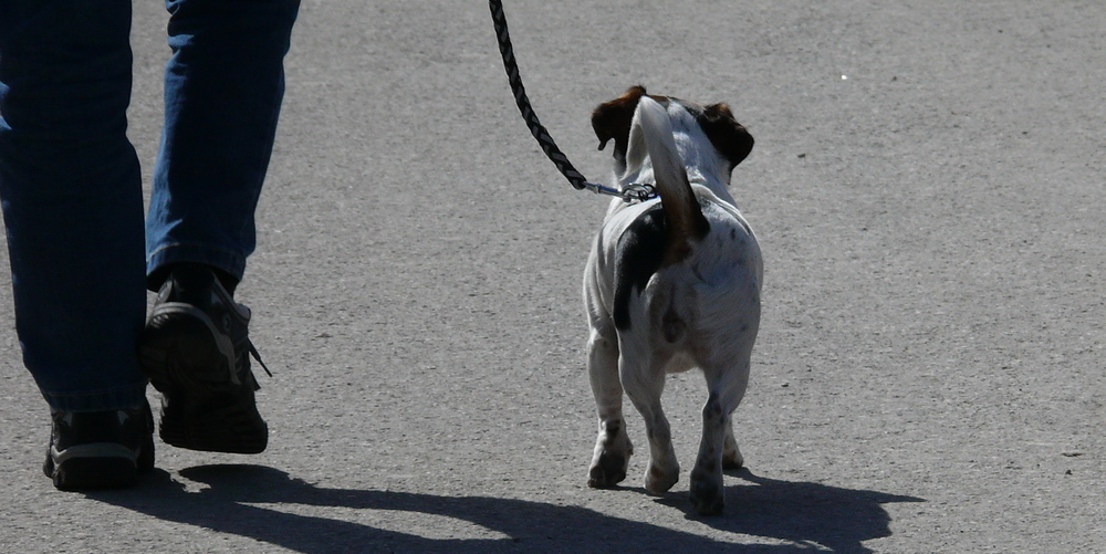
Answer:
[[42, 471], [61, 490], [118, 489], [154, 469], [149, 403], [107, 411], [51, 410], [53, 428]]

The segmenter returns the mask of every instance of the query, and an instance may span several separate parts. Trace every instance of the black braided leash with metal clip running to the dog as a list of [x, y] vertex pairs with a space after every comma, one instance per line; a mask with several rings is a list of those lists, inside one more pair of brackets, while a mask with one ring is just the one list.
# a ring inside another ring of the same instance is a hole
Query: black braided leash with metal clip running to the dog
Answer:
[[538, 144], [542, 147], [545, 156], [556, 166], [561, 175], [565, 179], [568, 179], [568, 182], [576, 190], [587, 189], [601, 195], [617, 196], [626, 202], [655, 198], [657, 191], [653, 185], [634, 182], [625, 189], [617, 189], [591, 182], [575, 167], [572, 167], [568, 157], [556, 147], [556, 143], [553, 142], [553, 137], [550, 136], [549, 130], [538, 119], [538, 114], [534, 113], [533, 106], [530, 105], [530, 98], [526, 97], [526, 88], [522, 85], [522, 75], [519, 74], [519, 62], [514, 59], [511, 35], [507, 30], [507, 14], [503, 13], [503, 2], [501, 0], [489, 0], [489, 7], [491, 8], [491, 19], [495, 23], [495, 35], [499, 38], [499, 52], [503, 54], [503, 69], [507, 70], [507, 79], [510, 81], [511, 91], [514, 93], [514, 102], [519, 105], [519, 111], [522, 112], [522, 118], [526, 122], [526, 126], [530, 127], [530, 134], [538, 139]]

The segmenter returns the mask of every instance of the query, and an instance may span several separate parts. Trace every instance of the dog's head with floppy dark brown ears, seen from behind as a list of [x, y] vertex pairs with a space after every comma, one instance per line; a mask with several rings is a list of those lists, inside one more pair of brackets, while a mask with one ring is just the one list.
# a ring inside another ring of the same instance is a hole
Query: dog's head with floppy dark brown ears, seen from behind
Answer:
[[[592, 112], [592, 128], [595, 130], [595, 136], [599, 139], [599, 149], [605, 148], [608, 142], [615, 142], [615, 169], [619, 175], [626, 169], [626, 150], [629, 145], [629, 132], [630, 124], [634, 121], [634, 112], [637, 109], [638, 101], [645, 95], [646, 91], [644, 86], [632, 86], [622, 96], [599, 104]], [[671, 103], [677, 103], [693, 115], [699, 127], [702, 128], [707, 138], [710, 139], [710, 144], [718, 150], [718, 154], [722, 158], [729, 161], [730, 171], [752, 151], [752, 135], [733, 118], [733, 113], [730, 112], [728, 105], [711, 104], [709, 106], [700, 106], [667, 96], [650, 94], [649, 97], [666, 107]]]

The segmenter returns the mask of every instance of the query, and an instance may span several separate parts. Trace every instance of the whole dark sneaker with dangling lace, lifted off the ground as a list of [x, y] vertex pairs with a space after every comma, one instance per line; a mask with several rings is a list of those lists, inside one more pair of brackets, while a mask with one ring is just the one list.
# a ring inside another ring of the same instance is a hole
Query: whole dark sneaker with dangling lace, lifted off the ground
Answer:
[[[161, 440], [209, 452], [258, 453], [269, 427], [258, 414], [250, 310], [202, 265], [173, 270], [139, 341], [139, 360], [161, 393]], [[272, 375], [272, 374], [269, 374]]]

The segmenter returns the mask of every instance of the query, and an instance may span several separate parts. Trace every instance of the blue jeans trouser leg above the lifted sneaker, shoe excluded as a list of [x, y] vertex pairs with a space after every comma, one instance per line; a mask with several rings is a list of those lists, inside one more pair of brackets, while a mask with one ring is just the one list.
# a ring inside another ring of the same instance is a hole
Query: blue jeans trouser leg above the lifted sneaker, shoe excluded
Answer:
[[[299, 0], [168, 0], [165, 129], [146, 222], [148, 285], [192, 262], [241, 280]], [[226, 281], [226, 280], [225, 280]]]

